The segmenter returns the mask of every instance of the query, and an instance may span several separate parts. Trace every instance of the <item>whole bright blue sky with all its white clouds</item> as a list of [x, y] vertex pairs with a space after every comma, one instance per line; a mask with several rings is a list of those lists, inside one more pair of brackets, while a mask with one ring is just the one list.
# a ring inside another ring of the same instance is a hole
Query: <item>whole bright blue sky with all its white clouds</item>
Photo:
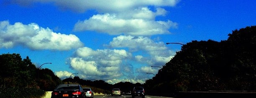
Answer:
[[255, 0], [1, 0], [0, 53], [61, 79], [144, 83], [192, 40], [256, 25]]

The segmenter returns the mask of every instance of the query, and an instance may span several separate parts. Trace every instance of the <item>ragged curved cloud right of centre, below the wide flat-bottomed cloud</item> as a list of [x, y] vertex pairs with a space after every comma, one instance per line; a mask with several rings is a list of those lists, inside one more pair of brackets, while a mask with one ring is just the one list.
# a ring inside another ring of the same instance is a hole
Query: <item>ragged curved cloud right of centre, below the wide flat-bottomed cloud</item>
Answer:
[[148, 37], [143, 36], [125, 36], [120, 35], [113, 38], [110, 42], [110, 47], [113, 48], [129, 48], [131, 51], [143, 50], [146, 51], [152, 58], [146, 58], [142, 55], [136, 55], [136, 60], [141, 62], [148, 62], [149, 64], [154, 64], [154, 62], [166, 63], [173, 55], [174, 51], [168, 50], [163, 42], [154, 42]]

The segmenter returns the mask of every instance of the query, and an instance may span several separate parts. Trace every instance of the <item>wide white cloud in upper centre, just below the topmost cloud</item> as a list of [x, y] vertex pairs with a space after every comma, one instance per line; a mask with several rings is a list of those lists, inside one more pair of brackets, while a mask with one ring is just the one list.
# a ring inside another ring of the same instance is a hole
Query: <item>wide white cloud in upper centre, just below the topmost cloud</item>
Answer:
[[170, 27], [177, 27], [177, 23], [168, 21], [143, 20], [140, 18], [123, 19], [116, 15], [93, 15], [90, 19], [79, 21], [74, 31], [93, 30], [110, 35], [156, 35], [170, 33]]

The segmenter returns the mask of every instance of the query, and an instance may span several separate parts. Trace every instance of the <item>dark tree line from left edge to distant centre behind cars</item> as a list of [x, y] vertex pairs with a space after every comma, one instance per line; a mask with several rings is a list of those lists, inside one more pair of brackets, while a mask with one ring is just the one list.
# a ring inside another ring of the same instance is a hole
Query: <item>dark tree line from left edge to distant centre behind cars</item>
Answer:
[[[130, 91], [133, 84], [130, 82], [109, 84], [104, 80], [83, 80], [78, 76], [61, 80], [54, 72], [48, 68], [36, 68], [27, 56], [22, 59], [20, 54], [2, 54], [0, 55], [0, 93], [6, 88], [36, 88], [44, 91], [53, 91], [59, 84], [80, 84], [84, 87], [92, 88], [95, 93], [110, 94], [113, 88], [120, 88], [123, 91]], [[13, 90], [10, 89], [10, 90]]]

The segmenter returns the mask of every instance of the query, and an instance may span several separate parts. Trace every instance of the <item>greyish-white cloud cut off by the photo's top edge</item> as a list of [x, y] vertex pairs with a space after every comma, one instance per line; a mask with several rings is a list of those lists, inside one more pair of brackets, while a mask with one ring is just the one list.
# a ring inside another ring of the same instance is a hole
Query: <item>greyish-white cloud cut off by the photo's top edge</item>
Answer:
[[33, 3], [54, 3], [62, 10], [83, 13], [95, 9], [100, 13], [124, 12], [141, 6], [175, 6], [179, 0], [10, 0], [23, 6]]

